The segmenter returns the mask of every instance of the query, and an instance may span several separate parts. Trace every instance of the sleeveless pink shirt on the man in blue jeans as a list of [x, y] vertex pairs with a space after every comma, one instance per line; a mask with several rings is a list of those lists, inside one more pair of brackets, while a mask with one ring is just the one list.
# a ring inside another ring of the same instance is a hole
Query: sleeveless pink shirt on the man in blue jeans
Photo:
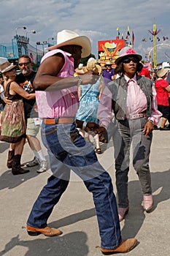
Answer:
[[[74, 76], [74, 59], [70, 53], [63, 52], [63, 50], [50, 50], [42, 57], [42, 61], [56, 53], [62, 53], [65, 59], [63, 68], [56, 76], [72, 78]], [[60, 91], [36, 91], [36, 103], [39, 118], [74, 117], [79, 106], [77, 85]]]

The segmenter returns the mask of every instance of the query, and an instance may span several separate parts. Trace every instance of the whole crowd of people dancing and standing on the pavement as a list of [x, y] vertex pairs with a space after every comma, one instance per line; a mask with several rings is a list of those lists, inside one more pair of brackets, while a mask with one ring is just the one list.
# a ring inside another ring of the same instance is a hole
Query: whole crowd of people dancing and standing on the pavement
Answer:
[[[102, 69], [93, 58], [83, 66], [80, 59], [90, 56], [90, 39], [69, 30], [58, 32], [57, 37], [58, 44], [48, 48], [37, 72], [31, 70], [29, 56], [20, 56], [18, 60], [20, 75], [16, 75], [15, 65], [0, 58], [0, 94], [4, 102], [0, 102], [1, 134], [5, 132], [4, 127], [12, 123], [10, 119], [4, 121], [5, 111], [18, 101], [23, 105], [20, 114], [25, 130], [17, 142], [10, 143], [7, 167], [12, 168], [14, 175], [29, 171], [20, 164], [27, 140], [34, 159], [26, 165], [38, 165], [38, 173], [47, 170], [47, 160], [37, 138], [41, 124], [42, 143], [47, 148], [53, 173], [31, 209], [27, 232], [30, 236], [61, 235], [62, 231], [49, 227], [47, 221], [68, 187], [73, 170], [93, 193], [101, 252], [104, 255], [128, 252], [138, 244], [136, 238], [123, 240], [120, 230], [120, 222], [131, 211], [128, 200], [130, 149], [132, 146], [142, 207], [149, 213], [154, 203], [149, 162], [152, 131], [158, 127], [160, 118], [160, 129], [170, 129], [166, 127], [170, 119], [170, 72], [160, 69], [153, 86], [149, 71], [141, 62], [142, 56], [131, 47], [120, 50], [115, 69], [109, 61]], [[109, 129], [113, 118], [114, 132]], [[96, 155], [102, 153], [100, 143], [109, 132], [115, 148], [117, 201], [112, 179]]]

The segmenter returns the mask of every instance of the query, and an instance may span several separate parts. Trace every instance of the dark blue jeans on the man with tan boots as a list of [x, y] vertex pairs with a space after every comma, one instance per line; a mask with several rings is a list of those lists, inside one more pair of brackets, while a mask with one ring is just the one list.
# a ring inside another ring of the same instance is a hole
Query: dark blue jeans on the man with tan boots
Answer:
[[72, 169], [93, 193], [101, 246], [113, 249], [120, 244], [121, 234], [112, 180], [76, 127], [76, 124], [57, 124], [57, 118], [56, 124], [42, 123], [42, 141], [50, 156], [53, 176], [40, 192], [27, 223], [32, 227], [47, 226], [53, 207], [69, 184]]

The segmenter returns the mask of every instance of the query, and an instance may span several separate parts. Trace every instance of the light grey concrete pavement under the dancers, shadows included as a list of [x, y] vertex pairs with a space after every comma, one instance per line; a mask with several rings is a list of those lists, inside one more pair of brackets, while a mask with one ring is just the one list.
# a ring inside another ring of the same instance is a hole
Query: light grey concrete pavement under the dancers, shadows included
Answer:
[[[150, 155], [155, 205], [150, 214], [142, 211], [139, 181], [131, 167], [129, 173], [130, 211], [125, 220], [121, 222], [121, 230], [123, 238], [136, 237], [139, 240], [139, 245], [126, 255], [170, 255], [169, 145], [170, 132], [155, 130]], [[34, 200], [50, 176], [50, 170], [38, 174], [36, 167], [32, 167], [30, 173], [13, 176], [11, 170], [6, 167], [8, 146], [8, 143], [0, 142], [0, 256], [101, 255], [100, 249], [96, 248], [100, 245], [100, 238], [92, 195], [87, 192], [82, 181], [75, 176], [72, 176], [68, 189], [49, 219], [49, 225], [63, 230], [63, 235], [53, 238], [43, 235], [28, 236], [26, 220]], [[104, 154], [99, 156], [99, 160], [112, 176], [115, 187], [112, 155], [111, 141]], [[22, 162], [32, 158], [33, 154], [27, 143]]]

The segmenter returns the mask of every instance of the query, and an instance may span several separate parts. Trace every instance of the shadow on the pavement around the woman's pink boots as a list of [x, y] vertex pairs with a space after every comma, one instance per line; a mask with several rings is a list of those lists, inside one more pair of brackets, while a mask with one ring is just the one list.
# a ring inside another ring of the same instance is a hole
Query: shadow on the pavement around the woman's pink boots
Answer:
[[[164, 172], [151, 173], [152, 178], [152, 193], [154, 206], [152, 211], [155, 211], [158, 203], [165, 200], [169, 200], [169, 181], [170, 170]], [[158, 192], [160, 191], [160, 192]], [[135, 237], [139, 233], [140, 228], [145, 219], [145, 213], [141, 206], [142, 204], [142, 192], [140, 189], [139, 181], [130, 181], [128, 183], [128, 195], [129, 195], [129, 211], [123, 220], [124, 225], [122, 228], [123, 238]], [[151, 211], [151, 212], [152, 212]], [[150, 213], [148, 213], [150, 214]]]

